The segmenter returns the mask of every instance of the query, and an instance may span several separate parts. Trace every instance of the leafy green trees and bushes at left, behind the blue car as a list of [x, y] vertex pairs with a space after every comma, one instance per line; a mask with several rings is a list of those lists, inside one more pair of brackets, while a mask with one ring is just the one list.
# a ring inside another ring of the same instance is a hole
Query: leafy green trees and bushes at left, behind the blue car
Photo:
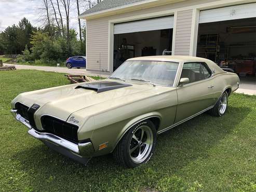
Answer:
[[[85, 31], [83, 29], [84, 37]], [[71, 48], [68, 49], [66, 37], [55, 26], [34, 28], [26, 18], [0, 33], [0, 54], [22, 53], [17, 59], [21, 64], [56, 65], [69, 57], [85, 55], [85, 38], [78, 40], [73, 29], [70, 30], [70, 45]]]

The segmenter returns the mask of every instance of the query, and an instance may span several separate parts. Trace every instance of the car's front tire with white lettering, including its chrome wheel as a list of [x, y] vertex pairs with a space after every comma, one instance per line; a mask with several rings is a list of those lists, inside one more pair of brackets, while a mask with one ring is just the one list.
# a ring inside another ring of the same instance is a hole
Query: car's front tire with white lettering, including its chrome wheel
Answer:
[[[142, 130], [144, 130], [143, 134], [142, 134]], [[142, 139], [141, 138], [139, 139], [141, 135], [143, 135]], [[141, 140], [141, 142], [139, 143], [138, 141], [138, 144], [136, 144], [137, 140], [134, 139], [134, 136], [136, 136], [136, 139]], [[147, 145], [148, 143], [150, 144]], [[138, 145], [137, 149], [134, 149], [136, 148], [137, 145]], [[117, 144], [113, 152], [113, 155], [117, 160], [117, 162], [120, 163], [122, 166], [126, 168], [134, 168], [134, 167], [140, 166], [140, 164], [143, 164], [149, 161], [149, 159], [153, 155], [155, 147], [156, 147], [155, 126], [150, 120], [143, 120], [138, 124], [132, 126], [132, 128], [130, 128], [125, 133], [123, 138]], [[138, 150], [138, 157], [136, 157], [137, 150]], [[144, 156], [142, 156], [143, 153], [145, 153]], [[139, 158], [140, 155], [142, 156], [141, 158]]]

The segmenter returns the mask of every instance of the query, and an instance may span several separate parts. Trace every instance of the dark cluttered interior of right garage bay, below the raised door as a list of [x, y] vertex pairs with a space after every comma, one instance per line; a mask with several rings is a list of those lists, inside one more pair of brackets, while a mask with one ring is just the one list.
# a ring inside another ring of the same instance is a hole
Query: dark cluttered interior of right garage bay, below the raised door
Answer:
[[255, 81], [256, 18], [199, 23], [197, 57]]

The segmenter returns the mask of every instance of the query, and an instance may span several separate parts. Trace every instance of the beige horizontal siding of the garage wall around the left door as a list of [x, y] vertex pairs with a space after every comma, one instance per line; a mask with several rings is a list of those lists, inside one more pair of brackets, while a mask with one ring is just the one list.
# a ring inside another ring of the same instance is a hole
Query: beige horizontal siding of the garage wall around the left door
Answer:
[[[109, 68], [109, 21], [120, 18], [134, 17], [147, 13], [167, 11], [186, 6], [193, 6], [201, 3], [215, 2], [215, 0], [188, 0], [179, 3], [173, 3], [163, 6], [146, 8], [132, 12], [126, 12], [115, 16], [103, 17], [98, 19], [87, 20], [87, 69], [88, 70], [108, 70]], [[191, 30], [191, 17], [192, 11], [178, 12], [177, 23], [179, 26], [176, 32], [177, 42], [175, 44], [175, 54], [189, 54], [190, 37], [188, 31]], [[180, 17], [180, 18], [179, 18]], [[192, 18], [192, 17], [191, 17]], [[186, 22], [183, 22], [183, 19]], [[174, 26], [175, 28], [175, 26]], [[186, 33], [186, 34], [183, 34]], [[190, 31], [191, 33], [191, 31]], [[186, 37], [186, 38], [184, 38]], [[100, 58], [101, 55], [101, 58]], [[101, 67], [100, 64], [101, 63]], [[110, 71], [112, 69], [110, 68]]]

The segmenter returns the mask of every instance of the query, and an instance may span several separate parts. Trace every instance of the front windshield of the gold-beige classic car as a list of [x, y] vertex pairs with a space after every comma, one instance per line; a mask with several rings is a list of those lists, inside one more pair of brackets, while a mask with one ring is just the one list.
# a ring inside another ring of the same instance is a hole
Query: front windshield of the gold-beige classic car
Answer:
[[167, 61], [126, 61], [110, 78], [173, 86], [179, 63]]

